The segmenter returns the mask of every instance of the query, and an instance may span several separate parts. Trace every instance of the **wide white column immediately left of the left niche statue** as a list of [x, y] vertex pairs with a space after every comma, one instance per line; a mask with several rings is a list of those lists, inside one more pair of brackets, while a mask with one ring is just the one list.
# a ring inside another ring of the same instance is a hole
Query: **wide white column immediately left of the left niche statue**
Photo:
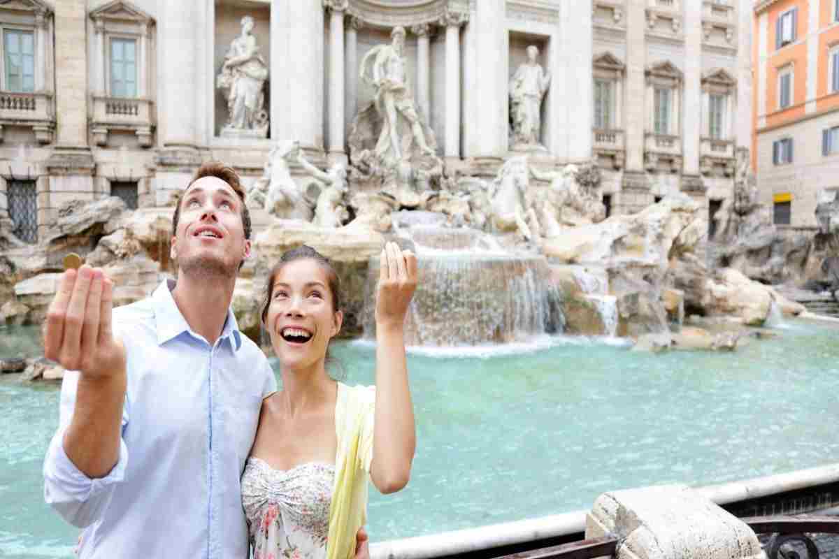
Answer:
[[195, 4], [190, 2], [164, 2], [159, 18], [160, 41], [164, 44], [163, 99], [160, 114], [165, 115], [164, 148], [195, 148], [198, 137], [197, 103], [195, 84], [196, 68], [200, 64], [198, 30], [195, 23]]

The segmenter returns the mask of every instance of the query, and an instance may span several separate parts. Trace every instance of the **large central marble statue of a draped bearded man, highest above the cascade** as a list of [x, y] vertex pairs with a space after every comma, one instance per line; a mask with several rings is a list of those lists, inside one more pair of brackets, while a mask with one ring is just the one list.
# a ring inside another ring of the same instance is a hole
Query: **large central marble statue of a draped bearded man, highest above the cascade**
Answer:
[[393, 163], [407, 158], [403, 134], [399, 131], [401, 118], [410, 127], [411, 137], [420, 151], [434, 156], [434, 150], [425, 141], [425, 132], [408, 86], [404, 28], [393, 28], [391, 38], [391, 44], [380, 44], [370, 49], [361, 67], [360, 77], [376, 91], [374, 104], [383, 119], [376, 153], [379, 158], [389, 159]]

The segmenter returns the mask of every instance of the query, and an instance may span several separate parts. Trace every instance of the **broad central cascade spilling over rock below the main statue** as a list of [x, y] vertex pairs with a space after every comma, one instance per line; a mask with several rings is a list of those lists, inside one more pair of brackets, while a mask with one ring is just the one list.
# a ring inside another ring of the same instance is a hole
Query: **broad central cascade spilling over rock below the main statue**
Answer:
[[[409, 233], [419, 285], [405, 318], [409, 346], [508, 344], [561, 332], [561, 293], [544, 256], [492, 250], [480, 231], [420, 225]], [[378, 256], [368, 262], [362, 323], [375, 336]]]

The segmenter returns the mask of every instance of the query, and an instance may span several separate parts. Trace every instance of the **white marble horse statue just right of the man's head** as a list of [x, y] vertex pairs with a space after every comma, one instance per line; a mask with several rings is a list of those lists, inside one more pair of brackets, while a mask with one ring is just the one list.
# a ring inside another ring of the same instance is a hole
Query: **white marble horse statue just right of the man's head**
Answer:
[[263, 176], [248, 189], [248, 204], [281, 219], [312, 219], [311, 204], [289, 171], [289, 159], [299, 152], [300, 144], [290, 142], [282, 147], [277, 145], [268, 153]]

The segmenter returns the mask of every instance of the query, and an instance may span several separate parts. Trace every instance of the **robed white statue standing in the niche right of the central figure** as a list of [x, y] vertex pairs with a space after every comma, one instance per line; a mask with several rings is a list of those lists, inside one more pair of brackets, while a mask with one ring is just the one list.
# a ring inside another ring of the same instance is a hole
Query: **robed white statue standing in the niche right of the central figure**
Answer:
[[527, 48], [528, 60], [519, 65], [519, 70], [510, 80], [510, 122], [512, 124], [513, 149], [541, 148], [539, 131], [542, 127], [540, 115], [542, 99], [550, 86], [550, 74], [536, 62], [539, 49], [534, 45]]

